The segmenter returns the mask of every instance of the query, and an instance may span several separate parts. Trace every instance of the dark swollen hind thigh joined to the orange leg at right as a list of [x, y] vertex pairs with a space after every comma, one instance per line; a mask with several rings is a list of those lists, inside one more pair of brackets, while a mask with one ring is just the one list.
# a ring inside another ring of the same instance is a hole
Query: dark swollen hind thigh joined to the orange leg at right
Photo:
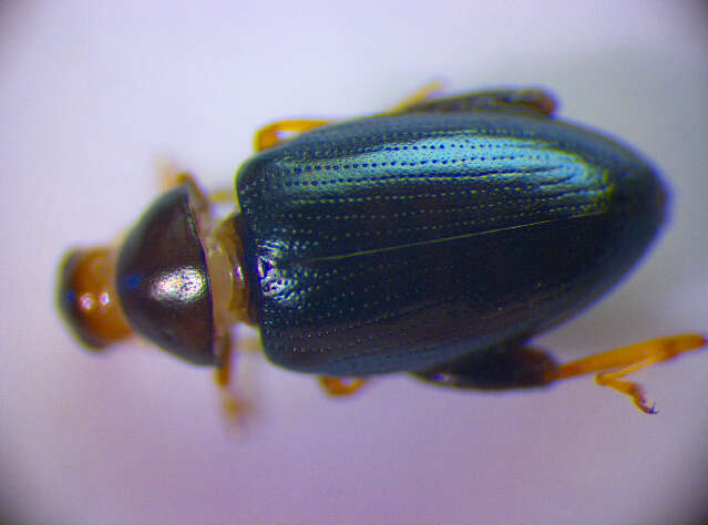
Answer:
[[511, 390], [544, 387], [553, 370], [555, 362], [546, 352], [512, 343], [476, 350], [412, 374], [438, 387]]

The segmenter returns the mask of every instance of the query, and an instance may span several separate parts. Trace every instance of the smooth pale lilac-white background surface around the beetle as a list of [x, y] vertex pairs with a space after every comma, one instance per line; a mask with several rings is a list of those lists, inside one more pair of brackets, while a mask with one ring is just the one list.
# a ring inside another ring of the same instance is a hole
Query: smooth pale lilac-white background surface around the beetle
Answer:
[[[175, 158], [232, 184], [254, 131], [347, 116], [444, 79], [547, 86], [560, 114], [661, 168], [673, 220], [632, 279], [540, 339], [563, 360], [708, 330], [708, 17], [686, 2], [34, 2], [0, 7], [0, 516], [65, 523], [668, 523], [708, 482], [708, 352], [637, 374], [649, 418], [591, 379], [547, 392], [406, 377], [330, 400], [257, 357], [240, 434], [211, 374], [81, 351], [53, 305]], [[244, 360], [239, 361], [244, 363]], [[246, 370], [244, 370], [244, 368]], [[244, 383], [242, 383], [243, 385]]]

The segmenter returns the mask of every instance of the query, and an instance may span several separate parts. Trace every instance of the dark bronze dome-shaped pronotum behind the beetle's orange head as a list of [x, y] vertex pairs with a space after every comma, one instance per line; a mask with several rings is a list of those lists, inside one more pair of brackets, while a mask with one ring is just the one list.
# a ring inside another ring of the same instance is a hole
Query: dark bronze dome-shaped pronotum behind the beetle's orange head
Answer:
[[131, 327], [168, 352], [214, 364], [214, 316], [188, 185], [163, 194], [127, 234], [117, 291]]

